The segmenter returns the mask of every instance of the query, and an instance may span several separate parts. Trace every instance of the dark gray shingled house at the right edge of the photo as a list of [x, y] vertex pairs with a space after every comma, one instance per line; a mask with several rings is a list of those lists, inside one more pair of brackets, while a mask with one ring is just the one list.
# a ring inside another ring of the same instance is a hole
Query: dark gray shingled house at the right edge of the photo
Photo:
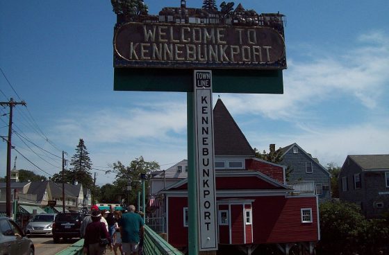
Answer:
[[339, 198], [361, 206], [367, 218], [389, 212], [389, 155], [348, 155], [339, 175]]

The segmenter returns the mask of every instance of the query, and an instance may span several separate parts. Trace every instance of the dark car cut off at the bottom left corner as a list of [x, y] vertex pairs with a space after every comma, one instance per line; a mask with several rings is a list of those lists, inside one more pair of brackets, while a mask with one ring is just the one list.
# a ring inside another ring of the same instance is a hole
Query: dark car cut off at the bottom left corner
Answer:
[[6, 217], [0, 217], [0, 255], [34, 255], [33, 242], [26, 237], [19, 225]]

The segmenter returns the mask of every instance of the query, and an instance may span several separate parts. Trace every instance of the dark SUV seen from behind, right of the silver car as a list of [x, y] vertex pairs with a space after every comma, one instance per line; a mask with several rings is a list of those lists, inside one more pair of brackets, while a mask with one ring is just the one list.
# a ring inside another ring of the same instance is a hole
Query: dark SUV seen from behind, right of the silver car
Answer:
[[81, 214], [76, 212], [58, 213], [53, 223], [53, 241], [59, 243], [60, 238], [80, 238]]

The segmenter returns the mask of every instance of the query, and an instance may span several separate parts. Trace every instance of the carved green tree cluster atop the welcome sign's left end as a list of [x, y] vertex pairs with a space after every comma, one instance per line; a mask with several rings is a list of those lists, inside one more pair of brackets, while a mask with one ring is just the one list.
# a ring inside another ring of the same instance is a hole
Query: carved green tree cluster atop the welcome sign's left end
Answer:
[[147, 15], [149, 8], [142, 0], [111, 0], [113, 12], [117, 15]]

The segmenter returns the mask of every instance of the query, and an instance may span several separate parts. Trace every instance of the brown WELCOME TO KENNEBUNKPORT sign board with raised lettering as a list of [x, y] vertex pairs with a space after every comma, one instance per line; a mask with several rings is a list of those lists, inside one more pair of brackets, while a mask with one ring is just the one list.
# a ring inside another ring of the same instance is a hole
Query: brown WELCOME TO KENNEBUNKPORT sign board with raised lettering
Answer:
[[115, 67], [285, 69], [283, 37], [270, 27], [193, 24], [118, 26]]

